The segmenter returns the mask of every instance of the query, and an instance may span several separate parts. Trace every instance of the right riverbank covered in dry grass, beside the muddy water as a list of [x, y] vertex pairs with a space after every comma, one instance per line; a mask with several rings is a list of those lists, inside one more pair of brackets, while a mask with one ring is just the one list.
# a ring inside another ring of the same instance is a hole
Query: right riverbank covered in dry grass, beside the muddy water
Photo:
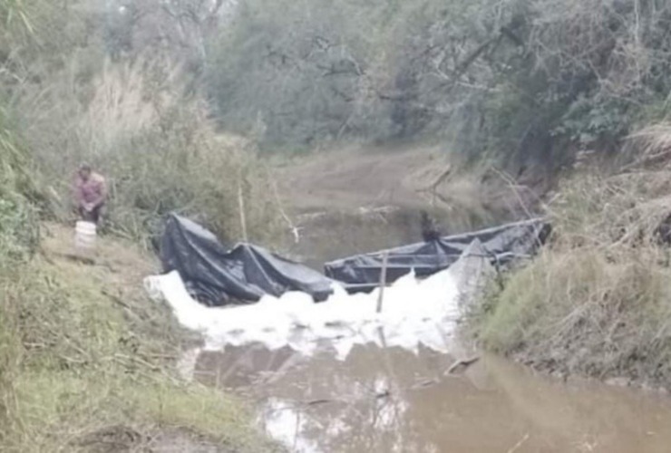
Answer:
[[564, 379], [671, 390], [671, 171], [566, 180], [550, 245], [471, 315], [481, 345]]

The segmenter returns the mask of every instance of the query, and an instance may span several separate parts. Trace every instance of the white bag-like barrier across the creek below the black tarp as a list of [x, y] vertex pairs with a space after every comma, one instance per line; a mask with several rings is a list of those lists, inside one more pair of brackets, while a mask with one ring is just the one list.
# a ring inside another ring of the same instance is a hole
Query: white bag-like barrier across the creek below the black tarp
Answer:
[[311, 356], [326, 343], [345, 360], [356, 344], [368, 343], [413, 352], [420, 345], [450, 352], [461, 315], [460, 294], [466, 291], [464, 278], [474, 275], [468, 259], [460, 263], [423, 280], [412, 273], [401, 277], [384, 289], [381, 313], [377, 313], [379, 290], [347, 294], [339, 284], [321, 304], [313, 303], [309, 294], [292, 292], [227, 308], [199, 304], [177, 272], [147, 277], [144, 284], [152, 298], [170, 305], [183, 326], [204, 335], [207, 350], [262, 343], [270, 351], [289, 346]]

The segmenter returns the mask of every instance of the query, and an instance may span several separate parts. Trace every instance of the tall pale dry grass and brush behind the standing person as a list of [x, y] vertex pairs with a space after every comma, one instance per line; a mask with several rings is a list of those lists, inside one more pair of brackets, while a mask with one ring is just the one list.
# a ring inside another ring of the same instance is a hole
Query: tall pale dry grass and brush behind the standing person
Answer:
[[108, 178], [109, 225], [124, 236], [146, 239], [177, 211], [237, 240], [245, 236], [241, 209], [249, 239], [278, 236], [279, 211], [254, 147], [218, 133], [199, 97], [186, 94], [179, 67], [106, 63], [88, 88], [74, 80], [63, 73], [22, 109], [59, 218], [72, 216], [74, 170], [85, 160]]

